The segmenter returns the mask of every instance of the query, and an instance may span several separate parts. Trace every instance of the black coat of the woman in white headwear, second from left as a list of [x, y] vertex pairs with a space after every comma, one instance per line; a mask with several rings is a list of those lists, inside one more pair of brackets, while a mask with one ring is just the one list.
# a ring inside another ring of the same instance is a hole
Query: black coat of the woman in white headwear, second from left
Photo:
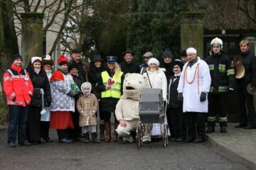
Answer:
[[34, 88], [33, 96], [31, 98], [31, 106], [42, 106], [42, 94], [40, 89], [43, 89], [44, 91], [44, 104], [50, 106], [50, 84], [46, 73], [43, 73], [41, 70], [39, 74], [36, 74], [36, 72], [31, 73], [30, 77]]

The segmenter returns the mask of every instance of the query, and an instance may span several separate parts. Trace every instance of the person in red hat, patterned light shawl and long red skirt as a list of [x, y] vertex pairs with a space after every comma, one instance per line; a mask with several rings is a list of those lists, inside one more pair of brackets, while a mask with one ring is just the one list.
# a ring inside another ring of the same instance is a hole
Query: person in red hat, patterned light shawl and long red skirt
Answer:
[[74, 128], [72, 112], [75, 112], [75, 82], [68, 74], [68, 58], [60, 55], [57, 71], [50, 78], [53, 102], [50, 105], [50, 127], [57, 129], [60, 143], [71, 143], [68, 128]]

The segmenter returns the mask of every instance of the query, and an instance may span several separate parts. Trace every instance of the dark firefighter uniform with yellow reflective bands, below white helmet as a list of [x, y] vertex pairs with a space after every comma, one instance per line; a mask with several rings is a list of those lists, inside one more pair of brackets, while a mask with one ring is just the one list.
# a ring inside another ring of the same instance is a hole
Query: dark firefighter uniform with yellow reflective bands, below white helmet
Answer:
[[220, 123], [220, 132], [226, 132], [228, 91], [234, 89], [235, 72], [228, 55], [214, 53], [206, 58], [210, 69], [210, 91], [208, 94], [209, 111], [206, 132], [215, 132], [215, 122]]

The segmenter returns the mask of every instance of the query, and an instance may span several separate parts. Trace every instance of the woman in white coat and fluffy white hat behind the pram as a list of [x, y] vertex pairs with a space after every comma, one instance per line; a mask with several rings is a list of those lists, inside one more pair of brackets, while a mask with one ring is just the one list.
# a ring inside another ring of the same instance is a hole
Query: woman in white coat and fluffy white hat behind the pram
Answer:
[[[162, 89], [163, 100], [166, 101], [167, 97], [167, 80], [164, 74], [165, 69], [159, 68], [159, 61], [156, 58], [151, 58], [148, 62], [149, 67], [143, 74], [148, 78], [149, 88], [151, 89]], [[153, 128], [151, 130], [151, 136], [161, 136], [161, 125], [160, 123], [153, 123]], [[149, 134], [144, 135], [145, 143], [151, 142]]]

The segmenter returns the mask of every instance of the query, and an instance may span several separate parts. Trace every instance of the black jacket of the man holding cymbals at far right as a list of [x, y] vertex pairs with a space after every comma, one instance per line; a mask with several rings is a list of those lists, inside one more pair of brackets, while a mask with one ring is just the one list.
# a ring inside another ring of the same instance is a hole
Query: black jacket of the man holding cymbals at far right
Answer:
[[256, 86], [256, 61], [255, 55], [251, 52], [241, 54], [242, 64], [245, 67], [245, 76], [241, 79], [236, 79], [239, 87], [246, 87], [247, 84], [252, 84]]

